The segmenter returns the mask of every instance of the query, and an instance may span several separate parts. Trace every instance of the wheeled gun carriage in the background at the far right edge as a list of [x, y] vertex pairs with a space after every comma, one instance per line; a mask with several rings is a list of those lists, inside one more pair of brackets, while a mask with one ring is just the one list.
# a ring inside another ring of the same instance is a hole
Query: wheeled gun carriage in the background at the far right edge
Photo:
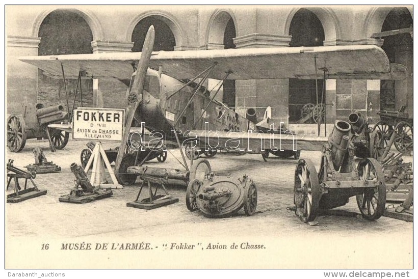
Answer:
[[380, 115], [380, 121], [373, 128], [381, 133], [383, 146], [389, 145], [391, 134], [395, 132], [393, 143], [399, 152], [413, 149], [413, 119], [405, 113], [405, 108], [406, 105], [398, 111], [379, 110], [377, 114]]

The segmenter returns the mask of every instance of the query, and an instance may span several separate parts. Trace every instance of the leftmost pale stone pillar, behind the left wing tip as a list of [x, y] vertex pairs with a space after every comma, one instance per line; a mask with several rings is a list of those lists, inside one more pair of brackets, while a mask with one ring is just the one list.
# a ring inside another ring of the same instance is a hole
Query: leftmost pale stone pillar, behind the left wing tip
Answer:
[[23, 56], [38, 55], [41, 38], [8, 36], [6, 48], [7, 114], [24, 115], [27, 126], [36, 125], [38, 68], [18, 60]]

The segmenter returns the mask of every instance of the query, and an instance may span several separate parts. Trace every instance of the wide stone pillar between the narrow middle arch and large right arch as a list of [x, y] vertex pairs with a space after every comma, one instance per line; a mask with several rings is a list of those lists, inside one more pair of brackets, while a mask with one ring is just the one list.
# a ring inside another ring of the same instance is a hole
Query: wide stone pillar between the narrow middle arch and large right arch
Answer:
[[[288, 47], [291, 36], [247, 34], [233, 39], [237, 48]], [[252, 69], [249, 69], [252, 70]], [[236, 81], [236, 111], [245, 115], [255, 108], [257, 121], [263, 119], [267, 106], [272, 108], [272, 121], [289, 124], [289, 79], [251, 79]]]

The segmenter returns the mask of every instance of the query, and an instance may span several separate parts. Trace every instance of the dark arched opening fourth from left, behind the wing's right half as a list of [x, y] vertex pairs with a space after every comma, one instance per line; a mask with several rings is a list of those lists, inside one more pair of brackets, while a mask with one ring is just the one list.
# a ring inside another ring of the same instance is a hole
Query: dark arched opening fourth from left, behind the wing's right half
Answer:
[[[325, 40], [324, 27], [319, 18], [307, 9], [299, 9], [292, 18], [289, 35], [292, 46], [323, 46]], [[312, 61], [314, 63], [314, 61]], [[288, 65], [291, 67], [291, 65]], [[324, 103], [322, 97], [323, 84], [318, 80], [318, 102]], [[317, 103], [315, 80], [289, 79], [289, 123], [295, 123], [301, 118], [301, 109], [305, 104]]]

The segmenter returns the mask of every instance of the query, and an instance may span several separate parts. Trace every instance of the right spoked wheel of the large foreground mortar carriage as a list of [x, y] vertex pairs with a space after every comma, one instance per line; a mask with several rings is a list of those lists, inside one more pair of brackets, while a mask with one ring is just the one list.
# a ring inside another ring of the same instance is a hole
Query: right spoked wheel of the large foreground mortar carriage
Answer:
[[356, 196], [357, 205], [364, 219], [376, 220], [382, 216], [386, 204], [386, 185], [382, 166], [374, 158], [364, 158], [358, 165], [360, 180], [374, 180], [381, 182], [376, 187], [365, 188], [362, 194]]

